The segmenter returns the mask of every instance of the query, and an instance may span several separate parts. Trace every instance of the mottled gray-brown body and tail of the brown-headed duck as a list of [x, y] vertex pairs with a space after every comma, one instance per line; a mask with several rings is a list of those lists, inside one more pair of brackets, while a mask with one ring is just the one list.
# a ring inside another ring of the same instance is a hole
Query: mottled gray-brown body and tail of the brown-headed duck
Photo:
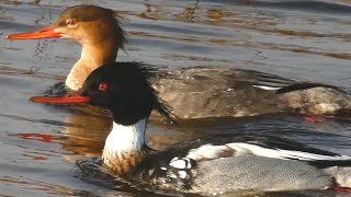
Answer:
[[298, 82], [252, 70], [183, 68], [152, 79], [151, 84], [181, 119], [242, 117], [278, 112], [331, 115], [351, 112], [351, 95], [343, 91], [322, 85], [302, 85], [302, 90], [276, 94], [260, 86], [279, 89]]

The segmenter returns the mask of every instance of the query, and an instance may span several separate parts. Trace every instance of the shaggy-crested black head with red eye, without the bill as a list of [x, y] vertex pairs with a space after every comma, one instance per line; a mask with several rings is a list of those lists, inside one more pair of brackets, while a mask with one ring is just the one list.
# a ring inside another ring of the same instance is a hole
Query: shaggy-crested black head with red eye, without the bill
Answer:
[[168, 106], [149, 83], [157, 73], [157, 68], [140, 62], [104, 65], [88, 77], [82, 95], [91, 97], [91, 105], [110, 109], [122, 125], [133, 125], [154, 109], [172, 119]]

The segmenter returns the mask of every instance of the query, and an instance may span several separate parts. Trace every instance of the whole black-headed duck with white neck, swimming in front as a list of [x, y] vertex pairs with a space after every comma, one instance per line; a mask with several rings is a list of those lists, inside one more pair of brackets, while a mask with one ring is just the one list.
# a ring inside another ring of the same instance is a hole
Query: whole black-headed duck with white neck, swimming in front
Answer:
[[216, 136], [183, 141], [163, 151], [146, 146], [148, 116], [170, 117], [150, 85], [156, 69], [116, 62], [94, 70], [80, 95], [34, 96], [38, 103], [89, 103], [113, 114], [102, 159], [115, 175], [166, 192], [328, 189], [351, 186], [351, 157], [279, 137]]

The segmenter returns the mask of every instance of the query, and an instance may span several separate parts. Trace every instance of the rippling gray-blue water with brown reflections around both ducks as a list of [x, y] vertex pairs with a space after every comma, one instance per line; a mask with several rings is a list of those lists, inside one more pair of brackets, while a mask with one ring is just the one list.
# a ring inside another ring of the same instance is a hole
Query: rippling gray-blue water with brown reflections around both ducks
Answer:
[[[81, 3], [111, 8], [124, 18], [129, 44], [118, 54], [121, 61], [168, 67], [229, 66], [351, 88], [348, 0], [0, 0], [0, 35], [48, 25], [66, 7]], [[71, 176], [77, 159], [100, 155], [110, 128], [109, 113], [89, 106], [27, 102], [30, 96], [64, 81], [79, 56], [79, 46], [66, 40], [0, 39], [1, 195], [152, 196], [107, 176], [83, 176], [86, 182]], [[216, 121], [149, 124], [147, 140], [150, 147], [162, 149], [204, 135], [259, 132], [351, 154], [349, 119], [278, 114]], [[93, 162], [87, 164], [88, 169], [97, 167]]]

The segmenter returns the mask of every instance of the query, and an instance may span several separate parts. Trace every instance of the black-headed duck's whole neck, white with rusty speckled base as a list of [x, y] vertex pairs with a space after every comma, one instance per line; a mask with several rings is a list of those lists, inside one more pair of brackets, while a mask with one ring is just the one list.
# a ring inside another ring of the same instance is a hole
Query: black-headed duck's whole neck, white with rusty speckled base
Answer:
[[103, 149], [103, 162], [115, 173], [125, 174], [144, 157], [147, 118], [131, 126], [113, 123]]

